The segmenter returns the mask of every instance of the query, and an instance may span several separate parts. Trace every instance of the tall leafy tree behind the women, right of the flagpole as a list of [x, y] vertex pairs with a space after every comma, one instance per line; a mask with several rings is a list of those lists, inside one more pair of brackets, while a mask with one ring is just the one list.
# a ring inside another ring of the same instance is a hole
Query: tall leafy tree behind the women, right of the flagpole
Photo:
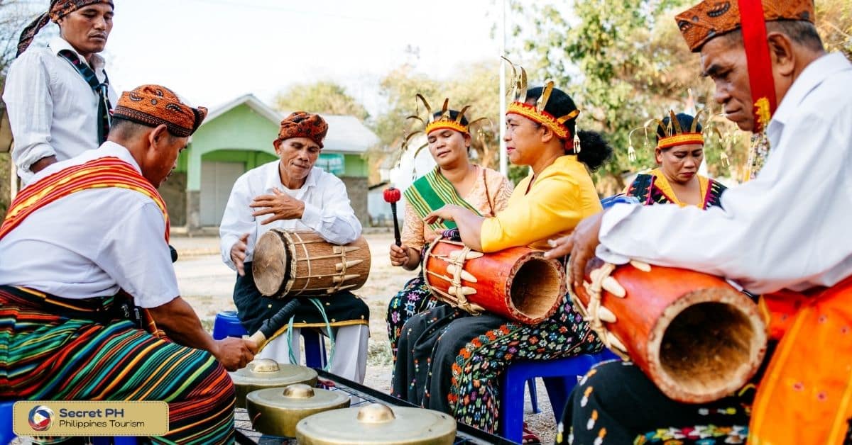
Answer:
[[[615, 148], [613, 162], [602, 168], [598, 189], [604, 195], [620, 191], [624, 174], [653, 166], [651, 150], [642, 150], [644, 132], [634, 133], [638, 159], [627, 156], [631, 130], [669, 109], [684, 109], [688, 90], [700, 107], [720, 111], [712, 100], [713, 85], [699, 77], [697, 54], [689, 52], [676, 28], [676, 11], [692, 0], [575, 0], [560, 8], [552, 4], [531, 7], [520, 2], [528, 23], [515, 28], [518, 51], [532, 54], [543, 66], [531, 79], [552, 77], [577, 101], [579, 127], [601, 131]], [[852, 13], [845, 0], [818, 4], [817, 27], [826, 47], [852, 54]], [[521, 9], [522, 8], [522, 9]], [[831, 20], [831, 22], [829, 22]], [[540, 83], [540, 81], [539, 81]], [[746, 135], [716, 118], [722, 138], [706, 145], [711, 174], [739, 178], [747, 158]], [[653, 134], [653, 128], [652, 128]], [[722, 153], [730, 167], [722, 164]]]

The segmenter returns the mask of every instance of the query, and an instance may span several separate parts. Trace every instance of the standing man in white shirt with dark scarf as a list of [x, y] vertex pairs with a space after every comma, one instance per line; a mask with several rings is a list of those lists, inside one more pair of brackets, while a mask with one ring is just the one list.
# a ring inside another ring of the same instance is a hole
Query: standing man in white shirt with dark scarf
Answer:
[[[30, 47], [52, 20], [60, 37], [47, 48]], [[112, 31], [112, 0], [53, 0], [21, 33], [3, 100], [14, 136], [12, 158], [24, 184], [51, 163], [107, 140], [109, 111], [117, 97], [98, 55]]]

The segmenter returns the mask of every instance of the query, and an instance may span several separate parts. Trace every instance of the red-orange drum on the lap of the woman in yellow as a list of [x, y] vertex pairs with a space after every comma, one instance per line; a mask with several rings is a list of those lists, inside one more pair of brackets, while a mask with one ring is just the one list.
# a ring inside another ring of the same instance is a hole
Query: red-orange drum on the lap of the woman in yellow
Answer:
[[423, 279], [438, 300], [473, 314], [489, 311], [536, 324], [553, 315], [565, 295], [559, 261], [532, 248], [483, 254], [442, 238], [423, 257]]

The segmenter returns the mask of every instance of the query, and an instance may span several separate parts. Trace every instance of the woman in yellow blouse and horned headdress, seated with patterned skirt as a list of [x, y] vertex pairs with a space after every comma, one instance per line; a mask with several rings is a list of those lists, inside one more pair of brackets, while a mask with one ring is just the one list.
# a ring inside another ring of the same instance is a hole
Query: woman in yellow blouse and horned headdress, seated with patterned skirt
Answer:
[[[492, 218], [446, 205], [425, 221], [452, 220], [467, 247], [482, 252], [528, 246], [544, 249], [548, 240], [569, 233], [579, 220], [602, 207], [590, 170], [602, 165], [612, 148], [600, 134], [578, 131], [579, 110], [568, 94], [554, 88], [527, 90], [526, 73], [515, 84], [515, 101], [506, 113], [509, 160], [532, 174], [515, 187], [509, 204]], [[449, 305], [435, 307], [406, 322], [394, 369], [396, 397], [451, 413], [481, 430], [498, 427], [498, 376], [515, 360], [567, 357], [601, 348], [568, 298], [537, 325], [511, 322], [484, 313], [468, 317]]]

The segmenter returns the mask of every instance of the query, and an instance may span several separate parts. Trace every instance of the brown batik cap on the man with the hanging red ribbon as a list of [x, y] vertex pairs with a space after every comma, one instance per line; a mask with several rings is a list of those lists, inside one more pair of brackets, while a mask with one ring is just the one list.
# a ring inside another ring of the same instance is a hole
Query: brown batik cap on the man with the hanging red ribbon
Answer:
[[[763, 0], [763, 19], [814, 22], [813, 0]], [[740, 29], [737, 0], [704, 0], [675, 16], [677, 26], [694, 53], [713, 37]]]

